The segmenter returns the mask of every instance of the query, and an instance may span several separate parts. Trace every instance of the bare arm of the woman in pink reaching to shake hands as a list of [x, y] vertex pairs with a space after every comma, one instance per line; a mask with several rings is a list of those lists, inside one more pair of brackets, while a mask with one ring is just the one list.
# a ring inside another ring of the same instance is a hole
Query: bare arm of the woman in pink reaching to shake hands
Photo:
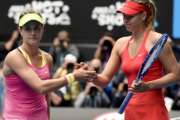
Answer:
[[[32, 87], [32, 89], [39, 93], [53, 91], [67, 84], [65, 77], [41, 80], [38, 75], [28, 67], [25, 59], [17, 50], [14, 50], [7, 55], [3, 71], [7, 68], [18, 74], [30, 87]], [[85, 71], [83, 69], [78, 69], [73, 74], [76, 79], [81, 78], [84, 80], [96, 76], [95, 71]]]

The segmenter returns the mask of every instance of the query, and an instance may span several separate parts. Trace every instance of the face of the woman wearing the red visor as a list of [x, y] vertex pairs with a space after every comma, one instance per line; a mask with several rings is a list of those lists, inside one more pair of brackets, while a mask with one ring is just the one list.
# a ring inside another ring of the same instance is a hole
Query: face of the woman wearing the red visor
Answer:
[[124, 25], [129, 32], [136, 31], [141, 25], [144, 25], [142, 12], [135, 15], [123, 14]]

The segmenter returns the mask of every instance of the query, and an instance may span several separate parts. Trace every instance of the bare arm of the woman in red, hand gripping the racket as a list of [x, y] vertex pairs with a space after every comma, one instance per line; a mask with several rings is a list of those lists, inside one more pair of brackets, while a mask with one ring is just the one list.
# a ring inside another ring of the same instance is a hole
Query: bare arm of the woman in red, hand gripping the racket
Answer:
[[168, 42], [165, 44], [159, 56], [159, 60], [164, 67], [166, 75], [157, 80], [142, 82], [140, 85], [133, 84], [130, 90], [135, 92], [142, 92], [149, 89], [165, 87], [171, 83], [175, 83], [180, 80], [180, 65], [178, 64], [174, 56], [170, 41], [171, 40], [169, 39]]

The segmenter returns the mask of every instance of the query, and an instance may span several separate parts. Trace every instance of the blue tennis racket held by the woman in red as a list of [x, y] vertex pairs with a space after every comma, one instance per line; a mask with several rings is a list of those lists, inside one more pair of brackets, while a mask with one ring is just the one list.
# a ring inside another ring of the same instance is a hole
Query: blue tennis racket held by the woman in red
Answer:
[[[135, 82], [138, 83], [139, 81], [141, 81], [143, 79], [143, 77], [146, 74], [146, 72], [148, 71], [148, 69], [151, 67], [153, 62], [158, 58], [167, 39], [168, 39], [168, 35], [163, 34], [161, 36], [161, 38], [157, 41], [157, 43], [151, 48], [151, 50], [149, 51], [149, 54], [146, 56], [143, 64], [141, 65], [141, 68], [139, 69], [139, 72], [136, 76]], [[133, 93], [131, 91], [128, 91], [127, 96], [125, 97], [125, 99], [123, 100], [123, 102], [119, 108], [119, 111], [118, 111], [119, 113], [124, 112], [124, 109], [126, 108], [128, 102], [132, 96], [133, 96]]]

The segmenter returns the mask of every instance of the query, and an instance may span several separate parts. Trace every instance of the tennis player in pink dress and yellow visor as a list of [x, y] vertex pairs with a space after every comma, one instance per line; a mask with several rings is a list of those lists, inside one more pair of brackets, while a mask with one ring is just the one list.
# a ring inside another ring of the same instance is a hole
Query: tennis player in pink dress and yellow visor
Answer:
[[8, 53], [4, 61], [4, 120], [49, 120], [48, 94], [75, 80], [97, 77], [81, 65], [72, 73], [50, 79], [52, 57], [39, 48], [44, 32], [42, 16], [34, 10], [20, 15], [18, 29], [22, 44]]

